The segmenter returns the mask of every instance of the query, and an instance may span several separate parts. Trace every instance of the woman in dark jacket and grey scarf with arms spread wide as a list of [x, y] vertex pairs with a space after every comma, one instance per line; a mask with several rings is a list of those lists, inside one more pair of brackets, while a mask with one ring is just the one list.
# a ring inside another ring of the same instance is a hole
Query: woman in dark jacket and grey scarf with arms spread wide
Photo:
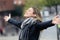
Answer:
[[55, 24], [60, 24], [59, 16], [55, 16], [50, 21], [42, 22], [40, 11], [34, 7], [26, 10], [24, 17], [27, 19], [20, 22], [11, 19], [11, 15], [4, 17], [5, 21], [21, 29], [19, 40], [38, 40], [41, 30], [54, 26]]

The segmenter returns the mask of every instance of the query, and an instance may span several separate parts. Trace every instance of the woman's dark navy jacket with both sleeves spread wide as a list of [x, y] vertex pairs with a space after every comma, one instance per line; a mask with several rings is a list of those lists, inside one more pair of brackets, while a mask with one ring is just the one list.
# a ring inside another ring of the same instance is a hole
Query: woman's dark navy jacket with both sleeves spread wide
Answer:
[[35, 20], [32, 22], [28, 20], [26, 21], [27, 24], [24, 23], [25, 25], [23, 26], [23, 28], [21, 28], [23, 21], [24, 20], [20, 20], [20, 22], [17, 22], [13, 19], [10, 19], [8, 21], [9, 23], [16, 25], [18, 28], [21, 29], [19, 40], [38, 40], [41, 30], [54, 25], [52, 24], [52, 20], [47, 21], [47, 22], [41, 22], [39, 20]]

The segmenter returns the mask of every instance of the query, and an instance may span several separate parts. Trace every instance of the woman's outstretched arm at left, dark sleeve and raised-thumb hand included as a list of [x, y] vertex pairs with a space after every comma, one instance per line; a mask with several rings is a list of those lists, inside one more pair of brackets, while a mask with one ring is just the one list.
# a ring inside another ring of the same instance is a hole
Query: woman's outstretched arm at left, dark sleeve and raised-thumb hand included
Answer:
[[22, 23], [22, 21], [19, 21], [19, 22], [18, 22], [18, 21], [16, 21], [16, 20], [12, 19], [12, 18], [11, 18], [11, 14], [9, 14], [9, 16], [5, 16], [5, 17], [4, 17], [4, 20], [5, 20], [6, 22], [9, 22], [9, 23], [11, 23], [11, 24], [19, 27], [19, 28], [20, 28], [20, 25], [21, 25], [21, 23]]

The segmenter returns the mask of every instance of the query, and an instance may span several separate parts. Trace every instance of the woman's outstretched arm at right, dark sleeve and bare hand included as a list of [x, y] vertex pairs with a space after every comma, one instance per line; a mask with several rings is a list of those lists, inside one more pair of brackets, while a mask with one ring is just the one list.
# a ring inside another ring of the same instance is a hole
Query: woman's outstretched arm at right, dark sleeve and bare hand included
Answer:
[[54, 26], [55, 24], [60, 24], [59, 16], [55, 16], [52, 20], [47, 22], [36, 21], [35, 26], [38, 27], [40, 30], [42, 30], [42, 29], [46, 29], [48, 27]]

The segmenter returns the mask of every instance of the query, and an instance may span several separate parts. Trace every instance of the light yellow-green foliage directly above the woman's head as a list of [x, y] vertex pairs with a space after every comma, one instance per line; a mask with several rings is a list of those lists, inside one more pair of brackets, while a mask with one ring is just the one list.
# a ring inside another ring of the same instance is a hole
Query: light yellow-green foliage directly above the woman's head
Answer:
[[45, 0], [26, 0], [25, 1], [25, 9], [35, 6], [37, 8], [41, 8], [46, 4]]

